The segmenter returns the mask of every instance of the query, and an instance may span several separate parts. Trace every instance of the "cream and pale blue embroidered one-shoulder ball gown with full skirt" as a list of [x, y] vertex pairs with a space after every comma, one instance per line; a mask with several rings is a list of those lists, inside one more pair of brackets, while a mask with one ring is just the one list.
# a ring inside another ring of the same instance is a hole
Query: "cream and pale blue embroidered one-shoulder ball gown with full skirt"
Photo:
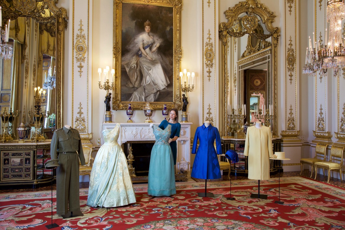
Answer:
[[125, 153], [117, 143], [120, 124], [103, 131], [107, 140], [98, 150], [93, 163], [87, 205], [117, 207], [135, 203], [135, 193], [129, 176]]

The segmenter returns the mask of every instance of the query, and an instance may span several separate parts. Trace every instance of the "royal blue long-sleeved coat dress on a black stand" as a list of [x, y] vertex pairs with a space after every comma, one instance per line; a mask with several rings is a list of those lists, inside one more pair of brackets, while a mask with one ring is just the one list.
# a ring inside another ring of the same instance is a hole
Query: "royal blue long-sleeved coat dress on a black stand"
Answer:
[[[199, 139], [199, 148], [196, 150]], [[216, 140], [217, 151], [214, 147]], [[199, 126], [194, 135], [192, 154], [195, 154], [191, 177], [199, 179], [221, 178], [217, 154], [221, 154], [219, 131], [211, 124]]]

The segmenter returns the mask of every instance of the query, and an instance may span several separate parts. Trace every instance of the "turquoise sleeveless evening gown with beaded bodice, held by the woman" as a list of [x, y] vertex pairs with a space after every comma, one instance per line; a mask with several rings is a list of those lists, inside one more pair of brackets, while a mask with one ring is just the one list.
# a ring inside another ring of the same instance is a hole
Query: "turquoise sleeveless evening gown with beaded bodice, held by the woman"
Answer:
[[174, 160], [168, 143], [171, 125], [162, 130], [154, 124], [152, 129], [156, 142], [151, 151], [147, 194], [170, 196], [176, 193]]

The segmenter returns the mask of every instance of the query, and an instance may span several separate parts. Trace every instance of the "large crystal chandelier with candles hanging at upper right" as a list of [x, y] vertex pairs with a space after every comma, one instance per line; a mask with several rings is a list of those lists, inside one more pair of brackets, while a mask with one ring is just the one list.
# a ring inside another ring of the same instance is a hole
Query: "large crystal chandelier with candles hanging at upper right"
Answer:
[[[333, 69], [333, 76], [337, 76], [339, 69], [345, 67], [345, 38], [341, 38], [341, 21], [344, 19], [344, 0], [328, 0], [327, 22], [329, 22], [329, 34], [327, 42], [327, 29], [325, 33], [325, 46], [318, 42], [316, 47], [315, 35], [313, 33], [313, 45], [309, 37], [309, 51], [307, 48], [304, 74], [313, 75], [320, 73], [321, 77], [326, 76], [327, 69]], [[317, 49], [316, 49], [317, 48]]]

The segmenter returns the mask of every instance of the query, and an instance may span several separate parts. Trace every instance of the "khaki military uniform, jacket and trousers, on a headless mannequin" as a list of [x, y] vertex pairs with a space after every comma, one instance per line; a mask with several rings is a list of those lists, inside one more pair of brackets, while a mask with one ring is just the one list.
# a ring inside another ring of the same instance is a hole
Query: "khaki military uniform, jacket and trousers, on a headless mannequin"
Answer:
[[55, 130], [50, 154], [60, 165], [56, 169], [56, 213], [65, 215], [68, 211], [80, 211], [79, 159], [84, 165], [85, 158], [78, 130], [66, 127]]

